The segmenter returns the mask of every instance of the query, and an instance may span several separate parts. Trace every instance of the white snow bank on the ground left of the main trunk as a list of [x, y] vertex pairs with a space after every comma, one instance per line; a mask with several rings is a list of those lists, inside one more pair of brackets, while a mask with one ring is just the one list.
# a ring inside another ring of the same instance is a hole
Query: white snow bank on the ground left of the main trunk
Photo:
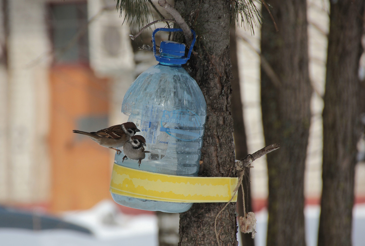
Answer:
[[1, 246], [157, 246], [155, 215], [125, 215], [114, 201], [104, 200], [90, 210], [62, 215], [67, 222], [89, 228], [93, 235], [71, 230], [0, 228]]

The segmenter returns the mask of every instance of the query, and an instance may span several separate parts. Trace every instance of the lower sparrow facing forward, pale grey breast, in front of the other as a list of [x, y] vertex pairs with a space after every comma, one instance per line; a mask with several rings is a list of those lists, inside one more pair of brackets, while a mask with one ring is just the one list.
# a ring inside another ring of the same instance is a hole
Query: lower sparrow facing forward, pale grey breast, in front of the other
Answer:
[[124, 157], [122, 163], [125, 158], [130, 158], [132, 160], [138, 160], [138, 167], [141, 165], [142, 159], [146, 157], [145, 153], [150, 153], [150, 151], [146, 151], [146, 139], [141, 135], [134, 135], [127, 142], [124, 143], [123, 151]]

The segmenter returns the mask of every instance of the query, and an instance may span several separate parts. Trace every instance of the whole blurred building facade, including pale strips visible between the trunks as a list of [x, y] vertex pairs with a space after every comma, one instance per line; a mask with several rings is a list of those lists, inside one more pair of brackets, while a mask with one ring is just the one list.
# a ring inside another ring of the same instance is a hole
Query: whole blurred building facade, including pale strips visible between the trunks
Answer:
[[[0, 204], [41, 205], [57, 212], [90, 208], [110, 198], [114, 151], [72, 130], [126, 122], [120, 112], [124, 93], [155, 62], [153, 55], [136, 64], [146, 56], [133, 52], [130, 29], [122, 25], [114, 0], [3, 0], [0, 5]], [[316, 93], [305, 189], [307, 199], [315, 201], [322, 189], [327, 12], [323, 1], [308, 1]], [[265, 145], [256, 52], [260, 28], [255, 36], [238, 28], [237, 36], [246, 135], [253, 153]], [[258, 209], [267, 197], [265, 158], [253, 166], [252, 197]], [[357, 165], [357, 197], [365, 197], [364, 175], [365, 165]]]

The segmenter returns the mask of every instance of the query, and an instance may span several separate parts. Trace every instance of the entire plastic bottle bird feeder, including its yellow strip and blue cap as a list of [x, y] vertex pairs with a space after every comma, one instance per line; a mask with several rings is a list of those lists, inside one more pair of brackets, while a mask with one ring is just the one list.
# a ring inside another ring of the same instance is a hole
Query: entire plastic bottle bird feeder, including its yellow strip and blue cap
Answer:
[[[190, 58], [196, 34], [185, 57], [185, 45], [162, 41], [159, 64], [137, 77], [124, 95], [122, 113], [129, 115], [146, 139], [150, 153], [140, 166], [115, 155], [110, 191], [118, 204], [150, 211], [185, 212], [194, 202], [227, 202], [237, 178], [197, 177], [207, 105], [196, 81], [182, 64]], [[235, 198], [237, 200], [237, 198]], [[235, 201], [235, 199], [233, 201]]]

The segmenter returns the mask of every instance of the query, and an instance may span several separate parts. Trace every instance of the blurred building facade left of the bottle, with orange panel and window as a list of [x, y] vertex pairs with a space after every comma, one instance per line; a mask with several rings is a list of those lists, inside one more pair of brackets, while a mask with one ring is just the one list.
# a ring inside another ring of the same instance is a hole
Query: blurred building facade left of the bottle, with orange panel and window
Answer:
[[1, 4], [0, 203], [90, 208], [110, 197], [113, 155], [72, 130], [126, 121], [128, 26], [112, 0]]

